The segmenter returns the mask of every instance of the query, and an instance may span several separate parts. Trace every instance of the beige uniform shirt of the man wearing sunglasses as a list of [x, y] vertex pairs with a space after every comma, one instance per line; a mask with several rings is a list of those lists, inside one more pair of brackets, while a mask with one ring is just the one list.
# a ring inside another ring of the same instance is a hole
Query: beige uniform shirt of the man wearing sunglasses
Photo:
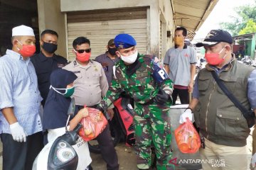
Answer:
[[79, 106], [94, 106], [102, 100], [102, 96], [107, 94], [107, 77], [99, 62], [92, 61], [82, 66], [76, 60], [63, 67], [78, 77], [74, 81], [75, 104]]

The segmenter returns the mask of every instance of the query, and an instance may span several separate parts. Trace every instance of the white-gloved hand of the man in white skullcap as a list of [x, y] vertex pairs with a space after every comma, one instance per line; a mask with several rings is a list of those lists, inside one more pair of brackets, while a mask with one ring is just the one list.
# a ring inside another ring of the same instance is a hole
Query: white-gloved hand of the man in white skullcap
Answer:
[[18, 122], [10, 125], [11, 135], [17, 142], [26, 142], [26, 132], [23, 130]]

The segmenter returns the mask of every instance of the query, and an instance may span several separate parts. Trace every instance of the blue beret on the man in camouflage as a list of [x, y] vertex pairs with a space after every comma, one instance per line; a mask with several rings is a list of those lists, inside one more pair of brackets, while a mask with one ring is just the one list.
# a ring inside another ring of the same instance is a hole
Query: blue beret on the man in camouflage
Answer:
[[114, 45], [117, 48], [129, 48], [137, 45], [137, 42], [129, 34], [119, 34], [114, 38]]

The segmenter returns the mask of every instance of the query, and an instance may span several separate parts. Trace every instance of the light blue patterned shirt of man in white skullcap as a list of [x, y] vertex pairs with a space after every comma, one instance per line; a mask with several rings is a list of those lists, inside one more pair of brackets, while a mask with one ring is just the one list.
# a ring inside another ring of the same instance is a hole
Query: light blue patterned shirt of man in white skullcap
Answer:
[[[30, 59], [7, 50], [0, 58], [0, 110], [14, 108], [14, 115], [27, 135], [42, 130], [39, 115], [42, 97], [38, 91], [36, 71]], [[9, 133], [9, 123], [0, 112], [0, 134]]]

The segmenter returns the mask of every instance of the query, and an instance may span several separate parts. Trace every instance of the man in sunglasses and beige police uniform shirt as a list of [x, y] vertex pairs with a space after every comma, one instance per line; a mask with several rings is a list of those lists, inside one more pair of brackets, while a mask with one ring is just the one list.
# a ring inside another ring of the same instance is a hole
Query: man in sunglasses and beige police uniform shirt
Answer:
[[[63, 67], [78, 77], [74, 81], [76, 110], [87, 105], [95, 108], [100, 103], [102, 96], [105, 96], [108, 89], [107, 78], [102, 65], [99, 62], [90, 60], [90, 40], [85, 37], [78, 37], [73, 41], [73, 52], [76, 59]], [[109, 125], [96, 138], [100, 145], [101, 154], [107, 163], [107, 169], [118, 169], [117, 152], [114, 149]]]

